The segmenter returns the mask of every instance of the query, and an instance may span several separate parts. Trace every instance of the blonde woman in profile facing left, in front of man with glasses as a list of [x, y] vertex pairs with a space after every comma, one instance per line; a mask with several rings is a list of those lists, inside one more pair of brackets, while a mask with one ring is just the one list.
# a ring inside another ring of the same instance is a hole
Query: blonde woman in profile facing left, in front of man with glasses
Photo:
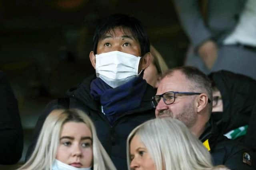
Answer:
[[203, 144], [177, 119], [153, 119], [127, 139], [129, 170], [228, 170], [212, 166]]

